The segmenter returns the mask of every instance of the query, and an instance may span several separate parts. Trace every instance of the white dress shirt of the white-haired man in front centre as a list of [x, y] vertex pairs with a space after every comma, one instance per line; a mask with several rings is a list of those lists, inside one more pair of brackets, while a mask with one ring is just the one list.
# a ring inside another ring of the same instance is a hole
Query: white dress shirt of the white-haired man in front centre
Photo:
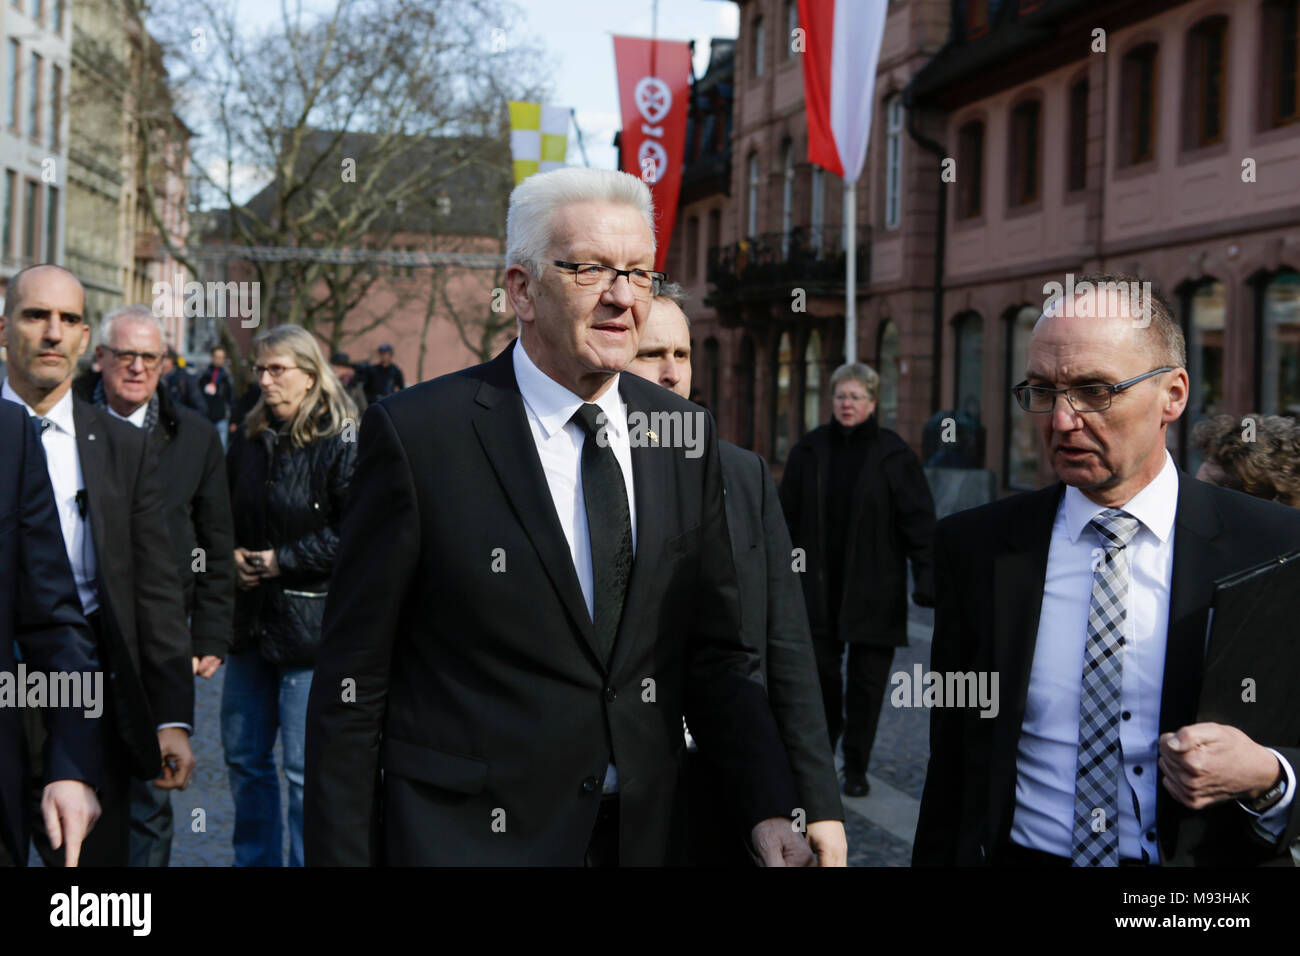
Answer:
[[[592, 567], [592, 538], [586, 525], [586, 498], [582, 497], [582, 444], [586, 431], [569, 419], [586, 402], [542, 372], [524, 351], [524, 342], [515, 345], [515, 380], [524, 398], [528, 427], [542, 459], [546, 484], [555, 502], [564, 540], [568, 541], [573, 570], [577, 572], [586, 601], [586, 613], [593, 619], [595, 574]], [[593, 405], [604, 412], [604, 431], [614, 457], [623, 470], [628, 489], [628, 518], [632, 522], [632, 553], [637, 548], [637, 498], [632, 484], [632, 447], [628, 440], [628, 408], [619, 394], [619, 376]], [[604, 774], [604, 792], [618, 792], [619, 775], [611, 763]]]

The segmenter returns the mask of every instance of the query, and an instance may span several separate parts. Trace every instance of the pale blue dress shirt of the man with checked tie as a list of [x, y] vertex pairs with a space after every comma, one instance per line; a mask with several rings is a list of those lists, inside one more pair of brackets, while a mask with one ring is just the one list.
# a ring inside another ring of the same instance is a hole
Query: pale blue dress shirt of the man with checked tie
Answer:
[[[1156, 842], [1157, 741], [1174, 575], [1178, 470], [1165, 467], [1127, 503], [1117, 506], [1141, 524], [1130, 542], [1128, 600], [1123, 623], [1119, 745], [1119, 856], [1160, 862]], [[1093, 554], [1101, 537], [1091, 522], [1105, 507], [1066, 488], [1052, 525], [1030, 689], [1017, 748], [1011, 839], [1031, 849], [1072, 856], [1074, 791], [1079, 748], [1083, 657], [1092, 604]], [[1274, 750], [1288, 779], [1287, 796], [1258, 818], [1274, 839], [1295, 791], [1291, 766]]]

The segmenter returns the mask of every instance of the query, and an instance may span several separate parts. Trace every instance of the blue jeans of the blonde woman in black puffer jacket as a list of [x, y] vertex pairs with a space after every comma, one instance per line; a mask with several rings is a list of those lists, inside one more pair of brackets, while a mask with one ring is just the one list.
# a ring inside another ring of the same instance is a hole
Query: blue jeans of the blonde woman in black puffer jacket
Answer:
[[235, 804], [235, 866], [282, 866], [276, 731], [289, 778], [289, 865], [303, 865], [303, 762], [312, 669], [268, 663], [256, 648], [226, 658], [221, 745]]

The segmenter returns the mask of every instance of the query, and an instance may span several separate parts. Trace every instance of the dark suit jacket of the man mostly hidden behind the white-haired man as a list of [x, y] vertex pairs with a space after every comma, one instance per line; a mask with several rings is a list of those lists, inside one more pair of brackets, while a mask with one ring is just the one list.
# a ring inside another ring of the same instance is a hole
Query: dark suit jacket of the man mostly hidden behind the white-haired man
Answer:
[[772, 472], [762, 455], [718, 442], [727, 527], [740, 585], [745, 643], [758, 648], [759, 670], [794, 773], [807, 821], [844, 819], [835, 757], [827, 743], [822, 685], [812, 654], [790, 532]]

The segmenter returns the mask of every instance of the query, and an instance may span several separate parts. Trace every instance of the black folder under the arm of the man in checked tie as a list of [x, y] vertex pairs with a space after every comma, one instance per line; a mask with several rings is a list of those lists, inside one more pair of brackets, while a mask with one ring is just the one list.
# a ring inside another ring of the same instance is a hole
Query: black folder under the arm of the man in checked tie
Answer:
[[1300, 740], [1300, 550], [1216, 581], [1196, 719]]

